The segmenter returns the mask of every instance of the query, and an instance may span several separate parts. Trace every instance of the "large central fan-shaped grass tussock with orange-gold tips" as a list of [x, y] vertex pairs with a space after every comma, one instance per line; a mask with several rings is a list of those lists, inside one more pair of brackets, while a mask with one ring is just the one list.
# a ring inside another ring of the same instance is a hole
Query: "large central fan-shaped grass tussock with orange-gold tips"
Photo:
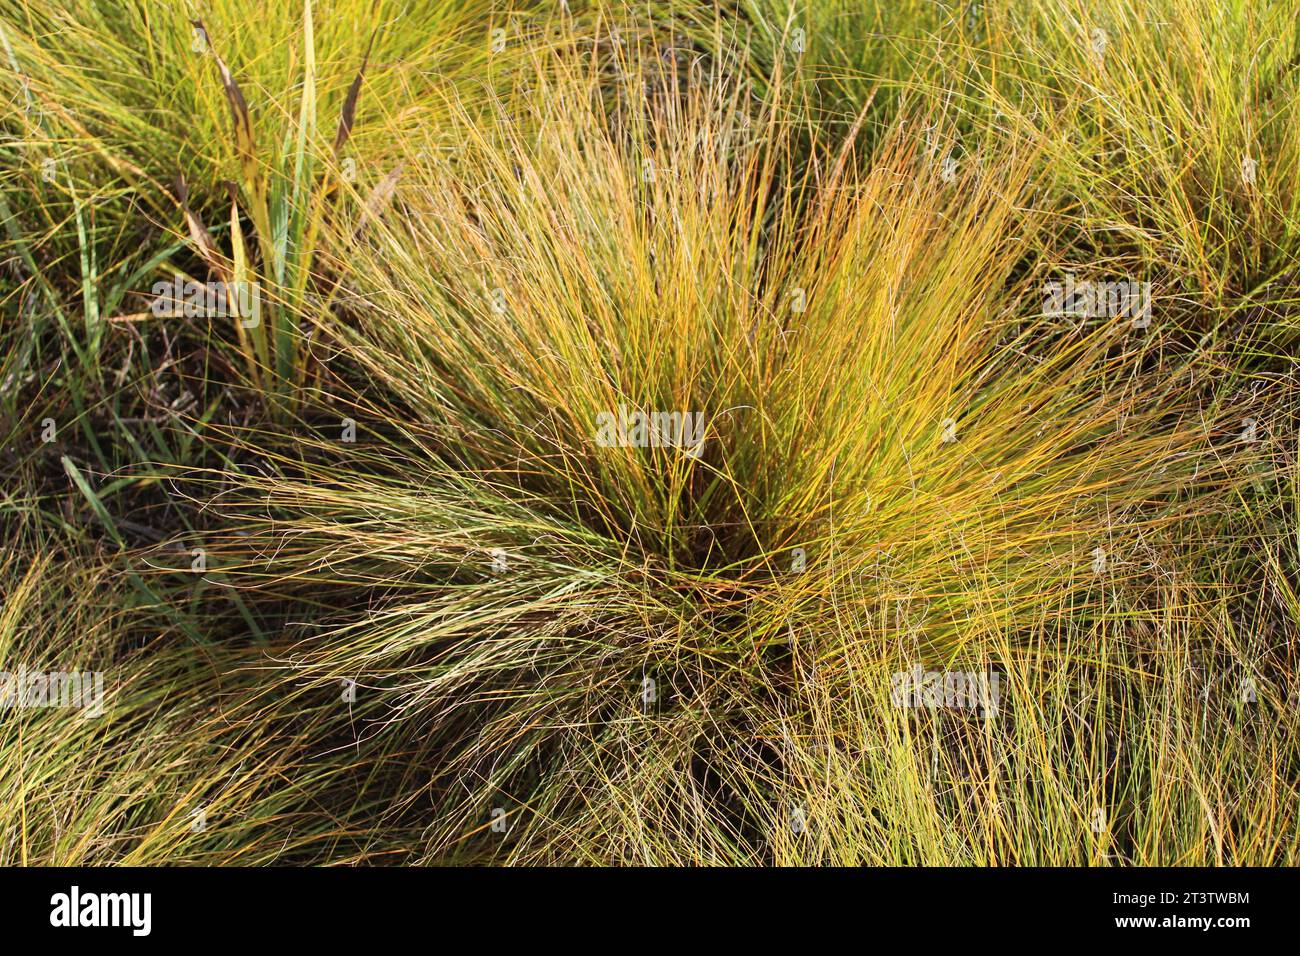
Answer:
[[[781, 104], [745, 133], [714, 77], [614, 122], [598, 77], [547, 65], [545, 107], [464, 118], [459, 166], [413, 170], [364, 239], [338, 233], [350, 282], [321, 337], [390, 405], [317, 410], [306, 447], [270, 440], [272, 473], [243, 484], [274, 522], [231, 503], [224, 559], [277, 597], [365, 596], [295, 640], [286, 680], [358, 675], [350, 721], [393, 745], [420, 728], [439, 754], [429, 858], [502, 809], [514, 839], [476, 852], [789, 861], [776, 829], [803, 791], [783, 723], [857, 739], [890, 666], [1098, 643], [1153, 574], [1206, 567], [1256, 451], [1210, 438], [1182, 375], [1132, 384], [1127, 320], [1061, 336], [1039, 315], [1015, 276], [1043, 228], [1020, 202], [1032, 144], [958, 186], [900, 130], [785, 181]], [[701, 454], [602, 446], [620, 407], [698, 410]], [[1062, 827], [1071, 783], [1050, 795]], [[930, 838], [949, 812], [931, 806]], [[978, 857], [824, 839], [801, 858], [1036, 858], [1024, 830]]]

